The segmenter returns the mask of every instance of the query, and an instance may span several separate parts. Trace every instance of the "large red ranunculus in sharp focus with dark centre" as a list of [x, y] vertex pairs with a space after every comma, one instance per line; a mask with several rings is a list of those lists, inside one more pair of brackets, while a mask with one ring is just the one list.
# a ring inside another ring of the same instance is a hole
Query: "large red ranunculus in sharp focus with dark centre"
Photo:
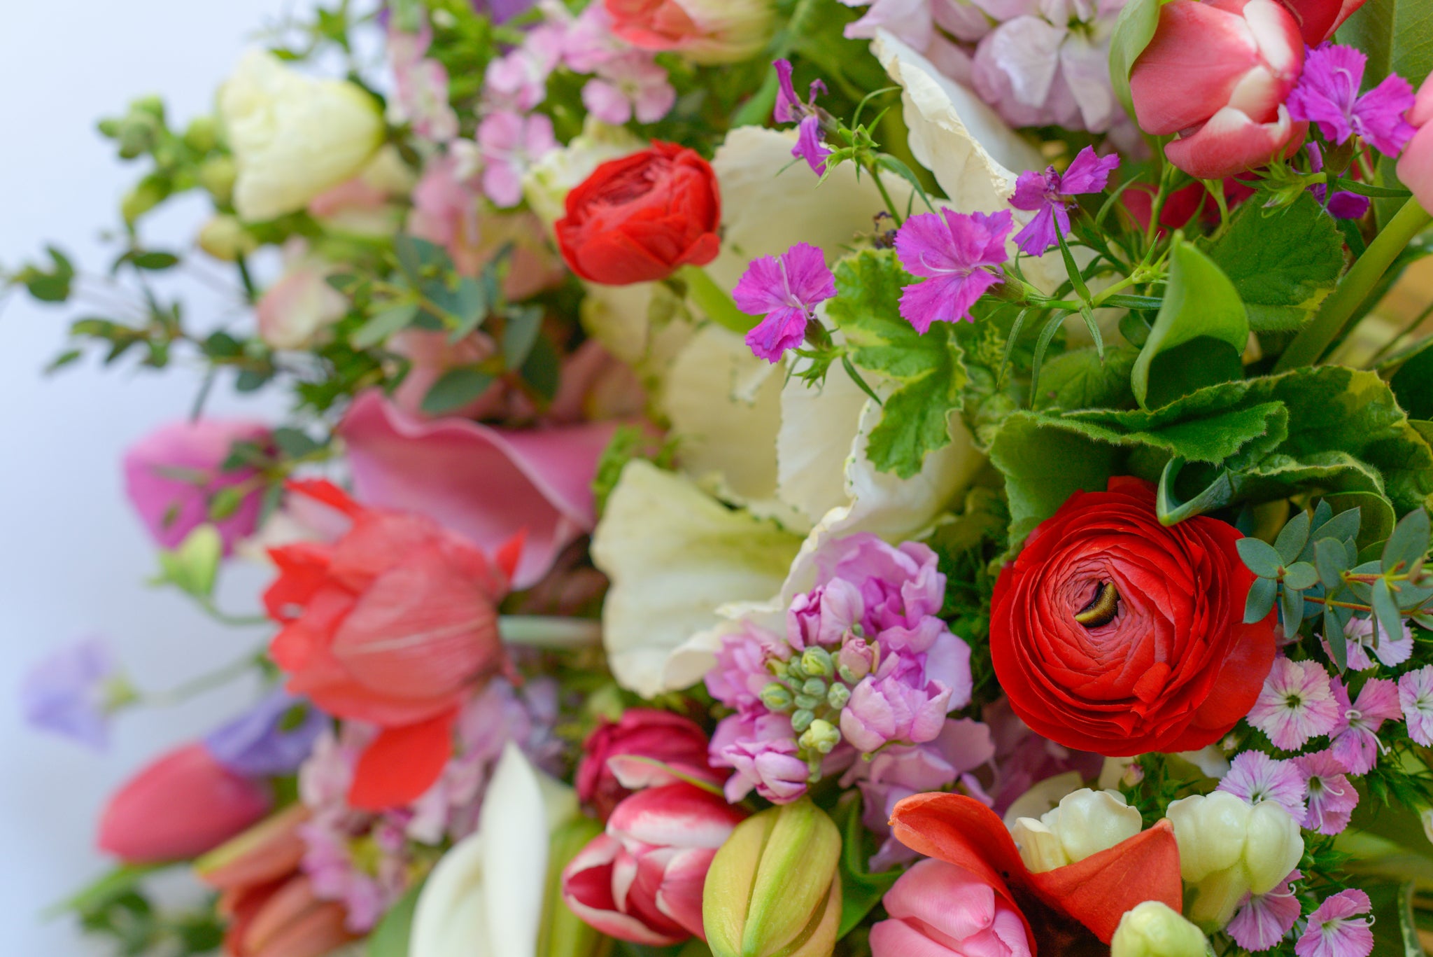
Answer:
[[1010, 707], [1066, 748], [1195, 750], [1244, 717], [1274, 663], [1274, 617], [1244, 624], [1240, 532], [1165, 528], [1155, 489], [1076, 492], [1000, 571], [990, 654]]

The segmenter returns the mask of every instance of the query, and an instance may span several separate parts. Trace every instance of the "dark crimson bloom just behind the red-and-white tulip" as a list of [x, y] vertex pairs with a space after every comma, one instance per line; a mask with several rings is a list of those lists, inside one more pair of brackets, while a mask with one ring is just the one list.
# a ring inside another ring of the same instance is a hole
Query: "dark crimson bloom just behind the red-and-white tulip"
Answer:
[[696, 722], [652, 707], [629, 707], [618, 722], [603, 722], [582, 746], [577, 798], [606, 819], [639, 788], [676, 781], [668, 770], [719, 783], [706, 763], [706, 732]]

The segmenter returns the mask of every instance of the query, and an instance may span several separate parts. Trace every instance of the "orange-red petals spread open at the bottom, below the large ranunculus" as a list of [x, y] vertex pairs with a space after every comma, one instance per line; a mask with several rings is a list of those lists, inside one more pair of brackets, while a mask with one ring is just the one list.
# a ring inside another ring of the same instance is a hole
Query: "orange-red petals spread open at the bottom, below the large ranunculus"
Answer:
[[[964, 795], [924, 793], [906, 798], [891, 814], [891, 832], [906, 847], [954, 865], [963, 874], [926, 868], [927, 872], [887, 895], [893, 920], [919, 918], [917, 894], [929, 885], [986, 885], [995, 891], [996, 913], [1015, 911], [1025, 923], [1029, 953], [1080, 953], [1095, 940], [1108, 944], [1119, 918], [1136, 904], [1161, 901], [1178, 911], [1184, 895], [1179, 882], [1179, 849], [1168, 821], [1076, 864], [1032, 874], [1005, 822], [983, 803]], [[923, 867], [923, 865], [921, 865]], [[916, 871], [911, 871], [914, 875]], [[898, 887], [898, 885], [897, 885]], [[956, 905], [957, 901], [952, 901]], [[992, 924], [999, 923], [992, 918]], [[881, 951], [880, 943], [910, 943], [924, 924], [904, 928], [877, 924], [871, 943], [877, 957], [923, 953], [914, 948]], [[1000, 930], [1000, 928], [996, 928]], [[1095, 938], [1095, 940], [1092, 940]], [[939, 954], [939, 950], [929, 953]], [[1093, 953], [1093, 951], [1092, 951]]]

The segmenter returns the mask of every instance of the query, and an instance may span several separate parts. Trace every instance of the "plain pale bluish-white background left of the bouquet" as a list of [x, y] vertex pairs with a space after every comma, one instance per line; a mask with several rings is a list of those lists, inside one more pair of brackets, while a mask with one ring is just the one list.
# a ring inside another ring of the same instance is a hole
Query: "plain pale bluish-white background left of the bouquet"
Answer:
[[[118, 222], [118, 199], [138, 171], [115, 158], [95, 121], [150, 92], [168, 100], [172, 122], [208, 112], [248, 37], [295, 3], [4, 6], [0, 264], [14, 268], [43, 241], [56, 241], [76, 263], [102, 271], [107, 257], [96, 235]], [[188, 244], [201, 211], [198, 202], [183, 204], [146, 238]], [[232, 296], [189, 283], [201, 321], [234, 319]], [[142, 687], [162, 689], [264, 637], [216, 627], [181, 595], [142, 585], [153, 552], [125, 502], [119, 458], [156, 425], [186, 415], [198, 376], [135, 372], [128, 362], [102, 370], [86, 360], [44, 377], [40, 369], [62, 350], [70, 314], [24, 296], [11, 296], [0, 311], [0, 953], [30, 957], [105, 953], [69, 921], [42, 924], [40, 910], [105, 868], [93, 851], [105, 796], [149, 756], [202, 735], [248, 694], [229, 689], [128, 716], [110, 752], [97, 756], [23, 726], [16, 689], [24, 670], [47, 650], [103, 634]], [[278, 412], [274, 400], [267, 405], [216, 389], [211, 412]], [[225, 583], [224, 598], [235, 611], [254, 611], [261, 585], [255, 570], [244, 570]]]

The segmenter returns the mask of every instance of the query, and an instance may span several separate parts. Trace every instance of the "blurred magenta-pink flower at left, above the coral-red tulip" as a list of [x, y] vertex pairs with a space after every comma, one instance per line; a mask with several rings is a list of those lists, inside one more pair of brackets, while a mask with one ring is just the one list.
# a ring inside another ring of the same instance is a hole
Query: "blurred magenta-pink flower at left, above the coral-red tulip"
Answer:
[[[123, 462], [125, 492], [150, 537], [165, 548], [175, 548], [195, 527], [209, 521], [216, 492], [254, 478], [254, 469], [221, 469], [234, 443], [262, 445], [268, 435], [259, 422], [198, 419], [173, 422], [129, 446]], [[261, 498], [262, 489], [254, 486], [232, 515], [215, 522], [225, 552], [239, 538], [254, 534]]]

